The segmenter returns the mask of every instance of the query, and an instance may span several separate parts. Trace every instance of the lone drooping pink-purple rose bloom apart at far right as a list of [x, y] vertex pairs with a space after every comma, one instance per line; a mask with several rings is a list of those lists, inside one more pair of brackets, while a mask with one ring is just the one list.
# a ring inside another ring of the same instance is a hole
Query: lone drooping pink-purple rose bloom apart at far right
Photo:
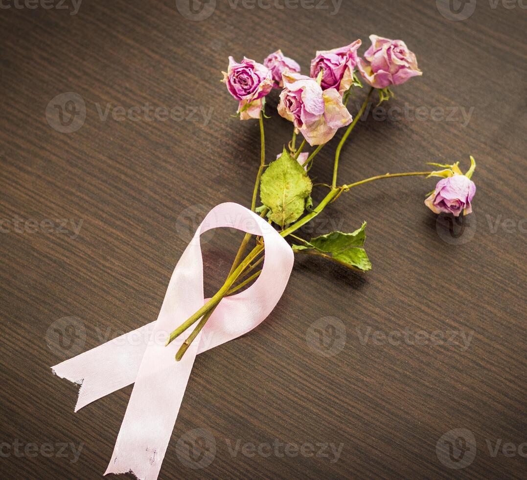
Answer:
[[425, 205], [434, 213], [451, 213], [460, 216], [472, 213], [471, 201], [476, 193], [472, 180], [464, 175], [454, 175], [438, 181], [434, 193], [425, 200]]

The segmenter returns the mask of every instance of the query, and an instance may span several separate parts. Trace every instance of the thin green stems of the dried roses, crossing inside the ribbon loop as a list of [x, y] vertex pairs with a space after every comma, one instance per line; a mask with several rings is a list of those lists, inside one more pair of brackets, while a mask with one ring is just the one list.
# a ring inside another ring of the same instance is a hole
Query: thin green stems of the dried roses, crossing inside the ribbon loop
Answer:
[[[326, 195], [326, 197], [313, 209], [311, 212], [309, 212], [307, 215], [301, 217], [297, 220], [294, 224], [288, 226], [287, 228], [282, 229], [280, 235], [282, 237], [287, 236], [294, 236], [293, 234], [302, 226], [309, 223], [311, 220], [313, 220], [317, 215], [320, 214], [324, 210], [324, 208], [329, 205], [331, 202], [335, 201], [343, 192], [348, 191], [351, 188], [358, 187], [359, 185], [367, 184], [371, 181], [385, 179], [385, 178], [395, 178], [395, 177], [408, 177], [408, 176], [428, 176], [432, 172], [431, 171], [421, 171], [421, 172], [406, 172], [406, 173], [400, 173], [400, 174], [385, 174], [385, 175], [378, 175], [376, 177], [370, 177], [366, 178], [361, 181], [357, 181], [355, 183], [349, 184], [349, 185], [342, 185], [337, 186], [337, 175], [338, 175], [338, 162], [340, 159], [340, 153], [344, 147], [344, 144], [346, 140], [348, 139], [350, 133], [355, 128], [356, 124], [358, 123], [359, 119], [362, 118], [367, 105], [370, 101], [370, 98], [372, 96], [374, 89], [370, 89], [368, 92], [368, 95], [366, 99], [364, 100], [364, 103], [362, 104], [362, 107], [360, 108], [359, 112], [357, 113], [355, 119], [353, 122], [349, 125], [348, 129], [346, 130], [343, 138], [340, 140], [337, 150], [335, 152], [335, 161], [334, 161], [334, 167], [333, 167], [333, 181], [331, 185], [323, 184], [324, 186], [329, 188], [329, 193]], [[260, 167], [258, 169], [258, 174], [256, 176], [256, 183], [255, 188], [253, 190], [252, 195], [252, 203], [251, 203], [251, 210], [252, 212], [255, 212], [256, 210], [256, 202], [258, 197], [258, 190], [260, 186], [260, 179], [264, 172], [264, 168], [266, 166], [266, 155], [265, 155], [265, 132], [264, 132], [264, 113], [260, 113], [260, 138], [261, 138], [261, 156], [260, 156]], [[294, 131], [293, 137], [291, 142], [289, 143], [289, 149], [291, 151], [292, 156], [294, 156], [295, 159], [298, 158], [301, 151], [304, 149], [306, 145], [306, 140], [304, 140], [300, 147], [296, 149], [296, 133]], [[313, 159], [316, 157], [317, 153], [325, 146], [319, 145], [313, 153], [307, 158], [307, 160], [304, 163], [304, 166], [310, 165]], [[261, 212], [261, 217], [265, 218], [268, 209], [264, 209]], [[190, 344], [193, 342], [194, 339], [196, 339], [199, 332], [203, 329], [204, 325], [209, 320], [210, 316], [218, 306], [218, 304], [221, 302], [221, 300], [229, 295], [232, 295], [233, 293], [239, 291], [246, 285], [250, 284], [253, 280], [256, 280], [257, 277], [261, 273], [261, 269], [256, 271], [257, 268], [260, 266], [260, 264], [264, 261], [264, 245], [257, 239], [257, 245], [252, 248], [252, 250], [245, 255], [247, 252], [249, 243], [251, 242], [251, 234], [246, 234], [243, 238], [243, 241], [241, 242], [240, 248], [238, 249], [238, 253], [236, 254], [236, 258], [232, 264], [232, 267], [230, 269], [230, 272], [227, 276], [227, 279], [223, 286], [218, 290], [216, 294], [206, 303], [202, 306], [201, 309], [199, 309], [196, 313], [194, 313], [188, 320], [183, 322], [177, 329], [175, 329], [170, 335], [167, 340], [167, 345], [170, 344], [174, 339], [178, 338], [179, 335], [181, 335], [183, 332], [185, 332], [187, 329], [189, 329], [192, 325], [194, 325], [196, 322], [199, 321], [199, 323], [196, 325], [192, 333], [189, 335], [189, 337], [183, 342], [180, 349], [178, 350], [177, 354], [175, 355], [175, 359], [177, 361], [181, 360], [184, 353], [189, 348]], [[298, 238], [298, 237], [296, 237]], [[300, 239], [301, 240], [301, 239]], [[313, 252], [311, 254], [315, 255], [321, 255], [324, 256], [321, 253]], [[244, 256], [245, 255], [245, 256]], [[252, 273], [254, 272], [254, 273]], [[252, 275], [251, 275], [252, 273]]]

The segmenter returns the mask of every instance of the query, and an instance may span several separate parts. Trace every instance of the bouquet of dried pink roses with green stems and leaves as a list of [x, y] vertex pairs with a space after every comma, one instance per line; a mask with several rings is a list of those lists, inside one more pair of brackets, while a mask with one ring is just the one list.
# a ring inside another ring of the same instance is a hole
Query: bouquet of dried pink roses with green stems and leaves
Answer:
[[[373, 93], [379, 95], [379, 103], [388, 101], [393, 97], [391, 88], [394, 85], [422, 75], [415, 54], [408, 50], [403, 41], [377, 35], [371, 35], [370, 40], [372, 45], [363, 57], [357, 53], [362, 44], [360, 40], [338, 49], [317, 52], [311, 61], [309, 76], [300, 74], [299, 64], [284, 56], [280, 50], [270, 54], [263, 64], [247, 58], [237, 63], [230, 57], [227, 72], [223, 72], [223, 82], [232, 97], [239, 102], [239, 118], [255, 119], [260, 123], [261, 157], [252, 196], [252, 212], [267, 218], [282, 237], [289, 237], [295, 253], [318, 255], [359, 272], [372, 268], [364, 249], [366, 223], [352, 233], [329, 232], [309, 240], [294, 235], [295, 232], [342, 193], [374, 180], [406, 176], [441, 177], [425, 204], [436, 214], [452, 214], [456, 217], [472, 212], [472, 199], [476, 191], [471, 180], [476, 167], [472, 157], [466, 174], [456, 162], [452, 165], [428, 164], [440, 168], [436, 171], [386, 174], [352, 184], [338, 183], [341, 151], [366, 111]], [[357, 70], [369, 85], [369, 91], [362, 108], [352, 116], [347, 108], [348, 100], [354, 89], [363, 87]], [[281, 89], [278, 113], [293, 123], [294, 130], [288, 147], [267, 165], [264, 121], [269, 117], [265, 114], [265, 100], [273, 89]], [[314, 185], [309, 178], [309, 170], [315, 157], [344, 127], [347, 129], [335, 151], [331, 183]], [[303, 140], [297, 147], [299, 134]], [[307, 144], [315, 147], [310, 153], [304, 152]], [[314, 187], [328, 189], [326, 197], [316, 206], [311, 199]], [[261, 205], [257, 202], [258, 193]], [[247, 253], [251, 242], [253, 247]], [[246, 234], [225, 284], [201, 309], [170, 334], [167, 344], [198, 322], [181, 345], [176, 360], [182, 358], [221, 300], [257, 279], [261, 273], [259, 266], [264, 262], [264, 249], [261, 237]]]

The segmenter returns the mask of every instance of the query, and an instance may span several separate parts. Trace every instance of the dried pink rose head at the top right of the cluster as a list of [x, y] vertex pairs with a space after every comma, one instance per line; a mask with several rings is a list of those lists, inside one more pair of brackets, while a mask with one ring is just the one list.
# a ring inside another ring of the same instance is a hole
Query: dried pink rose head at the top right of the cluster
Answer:
[[359, 59], [358, 68], [372, 87], [383, 89], [390, 85], [401, 85], [409, 78], [422, 75], [417, 67], [415, 54], [408, 50], [402, 40], [389, 40], [370, 35], [372, 46]]

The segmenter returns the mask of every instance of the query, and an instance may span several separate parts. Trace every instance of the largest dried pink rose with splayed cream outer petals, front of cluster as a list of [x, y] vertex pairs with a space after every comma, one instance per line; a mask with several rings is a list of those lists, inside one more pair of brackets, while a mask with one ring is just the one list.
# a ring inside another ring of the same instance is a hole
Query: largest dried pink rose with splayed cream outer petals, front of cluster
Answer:
[[284, 90], [280, 94], [278, 113], [294, 123], [309, 145], [331, 140], [337, 130], [352, 122], [338, 90], [322, 90], [312, 78], [284, 72]]

